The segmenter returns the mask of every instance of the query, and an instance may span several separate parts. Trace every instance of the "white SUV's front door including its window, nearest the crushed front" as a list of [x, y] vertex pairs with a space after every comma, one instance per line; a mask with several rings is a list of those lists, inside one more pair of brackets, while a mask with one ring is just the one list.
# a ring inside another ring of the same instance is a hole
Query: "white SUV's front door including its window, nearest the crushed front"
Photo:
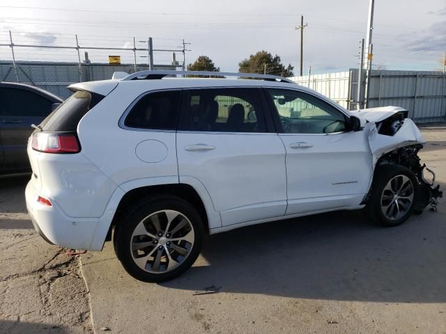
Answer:
[[321, 97], [266, 91], [286, 148], [286, 214], [360, 205], [372, 173], [364, 132], [348, 131], [348, 116]]

